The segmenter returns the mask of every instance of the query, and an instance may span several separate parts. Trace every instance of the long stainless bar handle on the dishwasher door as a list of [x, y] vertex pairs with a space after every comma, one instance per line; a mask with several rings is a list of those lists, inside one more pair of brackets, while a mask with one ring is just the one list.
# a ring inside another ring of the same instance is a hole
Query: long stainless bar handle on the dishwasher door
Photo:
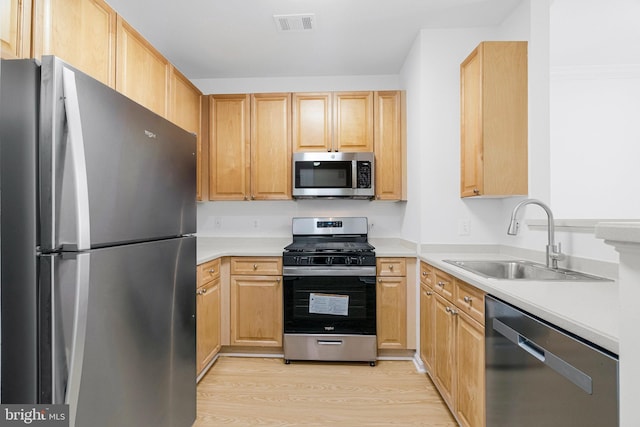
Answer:
[[593, 382], [591, 377], [565, 360], [539, 346], [531, 339], [520, 334], [515, 329], [507, 326], [498, 319], [493, 319], [493, 330], [503, 335], [509, 341], [538, 359], [540, 362], [562, 375], [585, 393], [593, 394]]

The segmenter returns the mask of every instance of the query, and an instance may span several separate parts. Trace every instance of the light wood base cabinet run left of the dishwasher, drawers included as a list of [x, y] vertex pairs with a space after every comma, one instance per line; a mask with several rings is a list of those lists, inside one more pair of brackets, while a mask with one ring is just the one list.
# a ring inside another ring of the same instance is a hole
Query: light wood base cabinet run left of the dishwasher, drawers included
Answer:
[[420, 280], [420, 357], [460, 425], [484, 427], [484, 293], [424, 262]]

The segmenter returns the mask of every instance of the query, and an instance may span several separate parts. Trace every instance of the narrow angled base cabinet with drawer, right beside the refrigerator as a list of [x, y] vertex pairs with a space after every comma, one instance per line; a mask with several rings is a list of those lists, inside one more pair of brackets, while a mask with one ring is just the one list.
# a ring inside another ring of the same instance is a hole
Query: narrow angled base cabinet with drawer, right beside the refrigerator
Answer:
[[221, 321], [220, 260], [198, 265], [196, 289], [196, 362], [197, 373], [211, 363], [220, 351]]

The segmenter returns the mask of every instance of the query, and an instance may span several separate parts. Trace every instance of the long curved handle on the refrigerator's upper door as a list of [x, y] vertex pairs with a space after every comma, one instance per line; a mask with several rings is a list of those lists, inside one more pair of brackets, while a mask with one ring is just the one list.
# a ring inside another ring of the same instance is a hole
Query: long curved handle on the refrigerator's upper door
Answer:
[[69, 131], [71, 163], [75, 177], [76, 236], [78, 239], [76, 244], [77, 250], [82, 251], [91, 248], [89, 186], [76, 77], [75, 73], [66, 67], [63, 67], [62, 70], [62, 87]]

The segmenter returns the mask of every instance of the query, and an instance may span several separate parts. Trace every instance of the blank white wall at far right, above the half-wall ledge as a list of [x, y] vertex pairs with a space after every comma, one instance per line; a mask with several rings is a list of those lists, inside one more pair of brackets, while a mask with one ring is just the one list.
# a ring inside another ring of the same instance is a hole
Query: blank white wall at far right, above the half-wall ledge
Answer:
[[638, 17], [637, 0], [552, 4], [551, 199], [563, 218], [640, 218]]

